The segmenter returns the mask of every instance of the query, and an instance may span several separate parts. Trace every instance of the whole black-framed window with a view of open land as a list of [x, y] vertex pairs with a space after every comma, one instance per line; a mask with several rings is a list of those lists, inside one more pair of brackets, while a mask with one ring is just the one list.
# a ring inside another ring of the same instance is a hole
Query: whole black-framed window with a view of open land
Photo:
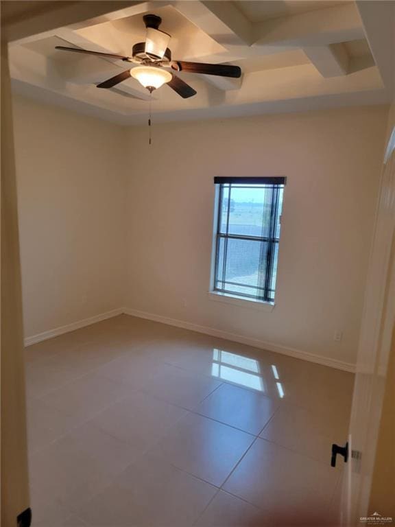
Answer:
[[213, 290], [274, 302], [286, 178], [215, 178]]

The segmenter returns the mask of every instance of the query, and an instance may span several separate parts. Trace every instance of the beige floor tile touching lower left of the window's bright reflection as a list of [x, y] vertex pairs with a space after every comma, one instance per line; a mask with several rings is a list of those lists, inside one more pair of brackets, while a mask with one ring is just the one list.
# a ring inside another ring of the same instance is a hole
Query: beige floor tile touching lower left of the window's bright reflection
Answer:
[[145, 384], [143, 390], [158, 399], [193, 410], [220, 385], [218, 381], [204, 375], [165, 365], [158, 375]]

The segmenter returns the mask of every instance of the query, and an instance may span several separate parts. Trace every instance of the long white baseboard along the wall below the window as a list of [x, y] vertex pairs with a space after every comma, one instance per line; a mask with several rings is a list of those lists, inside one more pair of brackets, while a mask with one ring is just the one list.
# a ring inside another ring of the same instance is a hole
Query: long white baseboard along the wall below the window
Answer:
[[274, 344], [273, 342], [265, 342], [264, 340], [257, 340], [255, 338], [237, 335], [236, 333], [229, 333], [228, 331], [214, 329], [213, 327], [200, 326], [191, 322], [186, 322], [184, 320], [176, 320], [175, 318], [167, 318], [166, 316], [146, 313], [137, 309], [125, 308], [123, 309], [123, 313], [131, 316], [137, 316], [139, 318], [147, 318], [148, 320], [154, 320], [155, 322], [160, 322], [169, 326], [190, 329], [191, 331], [197, 331], [197, 333], [205, 333], [206, 335], [224, 338], [225, 340], [232, 340], [233, 342], [247, 344], [248, 346], [253, 346], [255, 348], [274, 351], [275, 353], [282, 353], [283, 355], [289, 355], [289, 357], [315, 362], [316, 364], [321, 364], [322, 366], [329, 366], [338, 370], [355, 373], [355, 365], [351, 364], [350, 362], [343, 362], [342, 360], [331, 359], [329, 357], [323, 357], [322, 355], [315, 355], [313, 353], [308, 353], [307, 351], [301, 351], [299, 349], [281, 346], [280, 344]]

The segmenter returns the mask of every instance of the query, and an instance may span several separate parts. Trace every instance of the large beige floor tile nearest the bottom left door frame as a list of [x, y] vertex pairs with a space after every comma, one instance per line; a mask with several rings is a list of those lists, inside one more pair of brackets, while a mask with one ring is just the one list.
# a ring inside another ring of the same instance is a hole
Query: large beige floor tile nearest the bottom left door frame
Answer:
[[29, 458], [30, 484], [49, 507], [70, 515], [137, 457], [130, 445], [86, 424]]

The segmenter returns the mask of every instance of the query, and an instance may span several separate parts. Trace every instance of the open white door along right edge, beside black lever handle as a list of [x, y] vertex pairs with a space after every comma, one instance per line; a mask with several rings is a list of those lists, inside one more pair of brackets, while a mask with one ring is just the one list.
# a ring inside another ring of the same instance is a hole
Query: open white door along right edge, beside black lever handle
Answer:
[[[363, 309], [342, 491], [342, 524], [362, 525], [395, 320], [395, 128], [387, 145]], [[385, 511], [378, 511], [385, 516]]]

